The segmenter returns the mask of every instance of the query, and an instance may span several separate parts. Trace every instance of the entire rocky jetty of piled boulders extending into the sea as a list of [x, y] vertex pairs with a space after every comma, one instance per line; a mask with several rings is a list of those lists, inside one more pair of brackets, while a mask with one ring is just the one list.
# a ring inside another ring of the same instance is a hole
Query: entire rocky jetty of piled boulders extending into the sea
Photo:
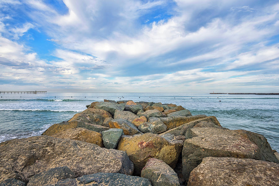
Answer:
[[175, 104], [86, 107], [42, 136], [2, 142], [0, 186], [279, 185], [278, 153], [262, 135]]

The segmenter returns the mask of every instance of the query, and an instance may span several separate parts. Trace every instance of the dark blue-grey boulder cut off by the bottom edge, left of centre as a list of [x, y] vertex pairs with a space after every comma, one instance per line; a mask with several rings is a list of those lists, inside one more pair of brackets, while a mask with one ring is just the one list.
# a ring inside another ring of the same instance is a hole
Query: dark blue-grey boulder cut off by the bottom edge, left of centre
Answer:
[[119, 173], [95, 173], [76, 179], [61, 180], [54, 186], [152, 186], [146, 178]]

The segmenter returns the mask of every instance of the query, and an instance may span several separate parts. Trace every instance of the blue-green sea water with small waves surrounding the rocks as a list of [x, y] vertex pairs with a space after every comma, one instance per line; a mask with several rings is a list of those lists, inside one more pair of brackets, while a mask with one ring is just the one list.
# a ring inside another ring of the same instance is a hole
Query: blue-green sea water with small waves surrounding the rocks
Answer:
[[[214, 115], [223, 127], [265, 136], [279, 150], [279, 96], [183, 93], [47, 93], [1, 94], [0, 142], [41, 135], [54, 123], [67, 121], [86, 105], [104, 99], [174, 103], [193, 115]], [[140, 98], [139, 98], [140, 97]], [[191, 98], [192, 97], [192, 98]], [[218, 97], [218, 98], [217, 98]], [[221, 102], [219, 102], [221, 100]]]

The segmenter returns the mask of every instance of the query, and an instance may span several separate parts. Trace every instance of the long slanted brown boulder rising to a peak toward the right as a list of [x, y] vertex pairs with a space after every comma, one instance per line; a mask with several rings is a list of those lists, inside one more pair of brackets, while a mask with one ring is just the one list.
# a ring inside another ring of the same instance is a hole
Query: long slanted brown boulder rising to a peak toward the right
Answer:
[[160, 135], [170, 133], [170, 134], [174, 134], [175, 136], [179, 136], [179, 135], [185, 136], [185, 133], [188, 128], [193, 128], [195, 125], [197, 125], [198, 123], [203, 122], [203, 121], [212, 122], [217, 127], [221, 127], [219, 121], [217, 120], [217, 118], [215, 116], [209, 116], [209, 117], [205, 117], [205, 118], [201, 118], [201, 119], [197, 119], [197, 120], [185, 123], [183, 125], [180, 125], [179, 127], [176, 127], [176, 128], [170, 129], [164, 133], [161, 133]]

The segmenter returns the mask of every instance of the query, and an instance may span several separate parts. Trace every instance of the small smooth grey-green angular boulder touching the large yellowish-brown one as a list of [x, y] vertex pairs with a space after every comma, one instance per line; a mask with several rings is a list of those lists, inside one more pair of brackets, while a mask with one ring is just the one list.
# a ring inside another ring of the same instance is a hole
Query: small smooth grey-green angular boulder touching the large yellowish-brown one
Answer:
[[102, 132], [104, 146], [107, 149], [115, 149], [120, 137], [123, 135], [123, 129], [111, 128]]

